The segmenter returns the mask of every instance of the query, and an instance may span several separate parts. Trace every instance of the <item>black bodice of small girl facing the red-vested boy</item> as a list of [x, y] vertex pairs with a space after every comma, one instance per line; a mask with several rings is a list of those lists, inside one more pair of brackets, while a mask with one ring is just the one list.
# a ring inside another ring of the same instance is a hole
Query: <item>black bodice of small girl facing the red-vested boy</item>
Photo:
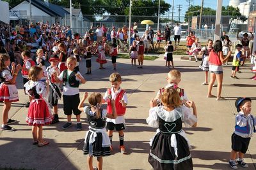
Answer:
[[100, 117], [96, 118], [96, 115], [90, 115], [89, 111], [91, 110], [91, 107], [88, 106], [85, 110], [85, 114], [88, 120], [88, 124], [95, 129], [102, 129], [106, 126], [106, 118], [102, 118], [102, 109], [100, 109]]

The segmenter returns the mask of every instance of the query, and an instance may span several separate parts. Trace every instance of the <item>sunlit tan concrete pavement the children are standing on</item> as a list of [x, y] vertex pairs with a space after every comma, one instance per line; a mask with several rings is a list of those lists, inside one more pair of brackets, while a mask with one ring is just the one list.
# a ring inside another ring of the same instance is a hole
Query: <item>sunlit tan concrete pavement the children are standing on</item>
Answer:
[[[83, 92], [101, 92], [110, 87], [108, 77], [113, 73], [111, 62], [105, 64], [106, 70], [99, 70], [94, 62], [92, 75], [86, 73], [84, 60], [81, 63], [81, 73], [88, 82], [80, 86]], [[186, 133], [193, 145], [191, 155], [194, 169], [230, 169], [227, 162], [230, 155], [231, 134], [234, 131], [234, 101], [236, 97], [253, 97], [252, 112], [256, 115], [255, 83], [250, 80], [250, 66], [242, 67], [239, 80], [230, 79], [230, 66], [224, 66], [223, 97], [227, 101], [216, 101], [206, 98], [207, 86], [200, 85], [204, 81], [204, 72], [198, 69], [200, 62], [180, 61], [174, 57], [175, 67], [182, 73], [180, 87], [184, 88], [189, 99], [195, 101], [198, 109], [198, 127], [187, 128]], [[151, 169], [147, 162], [149, 145], [156, 129], [148, 127], [145, 118], [148, 117], [148, 101], [156, 95], [159, 88], [166, 85], [166, 74], [169, 69], [164, 67], [163, 56], [154, 61], [145, 60], [143, 69], [131, 66], [131, 60], [118, 59], [117, 70], [123, 78], [122, 88], [127, 91], [129, 104], [125, 121], [125, 146], [128, 154], [118, 153], [118, 134], [113, 134], [113, 155], [104, 158], [103, 169]], [[82, 67], [83, 66], [83, 67]], [[13, 103], [10, 117], [19, 120], [12, 126], [15, 132], [0, 132], [0, 167], [24, 167], [27, 169], [87, 169], [86, 156], [83, 155], [84, 135], [88, 129], [84, 113], [82, 113], [83, 130], [76, 131], [76, 124], [66, 131], [61, 130], [66, 117], [63, 114], [63, 101], [60, 101], [60, 123], [44, 127], [44, 138], [50, 141], [49, 146], [38, 148], [31, 144], [31, 127], [26, 122], [28, 108], [23, 104], [28, 96], [22, 91], [22, 80], [17, 80], [20, 101]], [[216, 94], [216, 88], [213, 89]], [[81, 97], [81, 96], [80, 96]], [[0, 104], [3, 110], [3, 104]], [[1, 115], [2, 116], [2, 115]], [[0, 116], [0, 118], [1, 118]], [[75, 122], [75, 118], [72, 119]], [[248, 152], [245, 155], [248, 169], [256, 167], [256, 138], [252, 138]], [[94, 160], [94, 165], [95, 160]], [[1, 168], [0, 168], [1, 169]], [[239, 167], [239, 169], [243, 169]]]

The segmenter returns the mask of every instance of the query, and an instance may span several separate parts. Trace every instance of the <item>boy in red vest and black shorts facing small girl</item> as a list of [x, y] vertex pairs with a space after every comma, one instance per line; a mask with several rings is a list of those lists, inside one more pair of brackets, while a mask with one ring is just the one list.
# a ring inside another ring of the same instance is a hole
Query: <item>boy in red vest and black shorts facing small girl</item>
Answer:
[[[120, 152], [122, 154], [127, 153], [124, 146], [124, 129], [125, 129], [125, 110], [128, 103], [126, 92], [121, 89], [120, 84], [122, 83], [121, 76], [119, 73], [112, 73], [109, 76], [109, 81], [111, 83], [112, 88], [108, 89], [103, 97], [102, 103], [108, 102], [108, 113], [112, 113], [111, 108], [111, 99], [115, 99], [115, 106], [116, 106], [116, 115], [115, 119], [107, 118], [107, 125], [106, 129], [108, 129], [108, 136], [110, 142], [112, 143], [113, 137], [113, 130], [116, 129], [119, 134], [119, 141], [120, 141]], [[111, 151], [113, 150], [111, 146]]]

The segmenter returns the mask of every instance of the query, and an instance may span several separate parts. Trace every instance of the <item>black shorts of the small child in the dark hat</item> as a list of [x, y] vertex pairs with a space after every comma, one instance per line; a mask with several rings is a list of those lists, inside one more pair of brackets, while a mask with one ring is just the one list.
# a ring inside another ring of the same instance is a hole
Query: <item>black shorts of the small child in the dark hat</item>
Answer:
[[246, 151], [248, 150], [250, 139], [251, 138], [242, 138], [241, 136], [238, 136], [235, 133], [233, 133], [231, 136], [232, 150], [236, 152], [246, 153]]

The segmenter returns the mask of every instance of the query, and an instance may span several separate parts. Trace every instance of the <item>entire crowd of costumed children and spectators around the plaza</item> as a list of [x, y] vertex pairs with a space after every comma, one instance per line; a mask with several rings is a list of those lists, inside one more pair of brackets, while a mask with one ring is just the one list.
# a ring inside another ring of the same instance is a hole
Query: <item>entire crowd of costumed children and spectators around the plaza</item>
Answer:
[[[83, 129], [80, 115], [86, 113], [89, 124], [88, 132], [84, 141], [83, 151], [88, 155], [88, 169], [93, 167], [93, 156], [97, 157], [97, 169], [102, 169], [102, 157], [111, 155], [113, 150], [113, 131], [118, 131], [120, 153], [127, 153], [124, 145], [125, 112], [128, 104], [127, 94], [120, 87], [122, 78], [119, 73], [112, 73], [109, 76], [109, 88], [104, 96], [99, 92], [88, 94], [84, 92], [83, 98], [79, 98], [79, 85], [86, 83], [85, 78], [80, 73], [79, 62], [86, 60], [87, 73], [92, 74], [92, 56], [97, 56], [99, 69], [105, 69], [106, 55], [111, 56], [113, 69], [116, 69], [116, 57], [118, 50], [122, 48], [122, 43], [127, 43], [129, 31], [127, 27], [117, 29], [112, 27], [110, 31], [110, 42], [108, 42], [108, 29], [105, 25], [93, 27], [81, 38], [72, 34], [69, 26], [59, 23], [49, 25], [46, 23], [36, 23], [15, 26], [8, 36], [8, 26], [2, 25], [0, 41], [0, 101], [3, 102], [3, 120], [1, 130], [14, 131], [10, 124], [16, 122], [8, 117], [8, 112], [13, 102], [19, 101], [19, 94], [15, 81], [21, 70], [24, 93], [28, 95], [28, 115], [26, 122], [32, 126], [33, 145], [49, 145], [49, 141], [43, 139], [43, 126], [56, 124], [59, 122], [58, 100], [63, 98], [63, 111], [67, 116], [67, 122], [61, 129], [65, 131], [72, 126], [72, 114], [76, 116], [76, 129]], [[150, 140], [150, 153], [148, 162], [154, 169], [193, 169], [193, 162], [189, 152], [189, 141], [182, 129], [182, 122], [191, 127], [197, 125], [196, 105], [189, 101], [184, 89], [179, 87], [181, 73], [174, 69], [173, 52], [180, 43], [180, 26], [177, 24], [174, 29], [175, 46], [170, 41], [170, 28], [165, 27], [164, 34], [158, 30], [156, 34], [151, 27], [140, 37], [138, 35], [138, 24], [132, 27], [131, 65], [143, 68], [143, 54], [147, 53], [150, 45], [156, 48], [165, 39], [164, 57], [166, 66], [172, 65], [173, 69], [168, 72], [166, 80], [168, 84], [159, 89], [156, 97], [150, 101], [149, 117], [147, 123], [151, 127], [156, 127], [156, 135]], [[96, 38], [94, 37], [96, 35]], [[156, 38], [154, 45], [153, 38]], [[253, 37], [252, 37], [253, 38]], [[4, 42], [3, 42], [4, 39]], [[222, 40], [222, 41], [221, 41]], [[223, 81], [222, 65], [227, 63], [231, 55], [232, 45], [227, 35], [223, 35], [221, 40], [213, 42], [211, 39], [207, 46], [202, 47], [199, 39], [193, 32], [189, 33], [187, 46], [189, 55], [203, 55], [200, 68], [205, 71], [205, 81], [202, 85], [208, 85], [207, 97], [216, 97], [220, 101]], [[242, 45], [236, 46], [236, 52], [232, 62], [231, 78], [237, 78], [236, 72], [239, 66], [243, 66], [244, 53], [242, 48], [248, 50], [248, 34], [244, 34], [241, 39]], [[32, 53], [33, 43], [38, 43], [36, 53]], [[110, 44], [110, 45], [109, 45]], [[254, 60], [254, 59], [253, 59]], [[48, 63], [49, 62], [49, 63]], [[255, 62], [255, 61], [254, 61]], [[211, 72], [211, 80], [208, 83], [208, 72]], [[256, 73], [256, 71], [255, 71]], [[255, 80], [256, 77], [253, 78]], [[212, 95], [214, 81], [218, 82], [217, 96]], [[88, 106], [84, 107], [84, 101], [88, 98]], [[100, 105], [107, 103], [106, 110]], [[250, 115], [250, 98], [238, 98], [236, 108], [239, 114], [236, 117], [236, 129], [232, 135], [232, 153], [229, 164], [236, 169], [236, 155], [239, 153], [237, 164], [248, 167], [244, 162], [244, 153], [249, 145], [252, 131], [241, 131], [249, 127], [254, 127], [256, 119]], [[52, 108], [52, 109], [51, 109]], [[98, 135], [99, 134], [99, 135]], [[245, 138], [245, 139], [243, 139]], [[172, 147], [170, 147], [172, 146]], [[164, 148], [164, 150], [162, 149]]]

